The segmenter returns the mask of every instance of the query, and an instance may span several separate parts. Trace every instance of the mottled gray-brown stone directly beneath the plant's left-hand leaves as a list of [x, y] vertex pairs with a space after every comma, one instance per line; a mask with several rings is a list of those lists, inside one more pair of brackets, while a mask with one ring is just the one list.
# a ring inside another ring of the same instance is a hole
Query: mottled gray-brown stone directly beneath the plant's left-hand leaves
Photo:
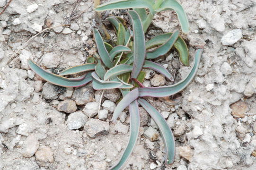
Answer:
[[81, 87], [74, 90], [71, 99], [76, 101], [77, 105], [84, 105], [88, 102], [94, 102], [93, 97], [94, 90], [92, 87]]

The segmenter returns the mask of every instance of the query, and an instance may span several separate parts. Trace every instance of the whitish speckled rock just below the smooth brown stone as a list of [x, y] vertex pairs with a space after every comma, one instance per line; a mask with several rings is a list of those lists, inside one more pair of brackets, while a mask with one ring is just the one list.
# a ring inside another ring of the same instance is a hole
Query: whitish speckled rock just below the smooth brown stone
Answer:
[[88, 118], [84, 115], [82, 111], [76, 111], [68, 116], [66, 123], [69, 129], [73, 130], [83, 127], [87, 120]]

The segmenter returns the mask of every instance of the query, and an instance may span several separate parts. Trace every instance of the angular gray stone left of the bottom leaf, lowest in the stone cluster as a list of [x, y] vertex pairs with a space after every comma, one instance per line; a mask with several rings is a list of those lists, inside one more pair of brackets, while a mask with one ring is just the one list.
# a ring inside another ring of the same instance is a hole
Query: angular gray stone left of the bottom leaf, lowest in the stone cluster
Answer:
[[91, 138], [106, 135], [109, 132], [109, 124], [99, 119], [90, 119], [84, 126], [85, 132]]

